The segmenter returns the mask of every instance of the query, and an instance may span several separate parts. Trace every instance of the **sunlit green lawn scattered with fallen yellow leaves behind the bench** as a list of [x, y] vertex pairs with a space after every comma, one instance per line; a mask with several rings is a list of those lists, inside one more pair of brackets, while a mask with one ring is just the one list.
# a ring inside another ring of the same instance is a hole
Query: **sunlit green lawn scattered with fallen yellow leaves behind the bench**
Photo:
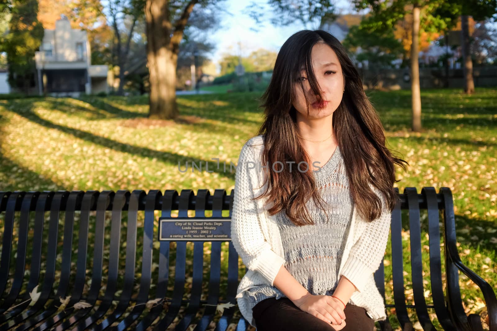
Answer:
[[[382, 119], [388, 146], [410, 163], [407, 172], [398, 173], [396, 187], [400, 192], [406, 187], [416, 187], [420, 192], [425, 186], [452, 190], [461, 260], [495, 287], [497, 89], [477, 88], [472, 96], [458, 89], [423, 90], [421, 133], [409, 130], [410, 91], [367, 94]], [[175, 122], [148, 121], [147, 97], [0, 100], [0, 190], [210, 189], [213, 194], [214, 189], [225, 189], [230, 193], [235, 184], [230, 162], [237, 164], [242, 145], [256, 134], [262, 121], [262, 111], [257, 108], [259, 96], [181, 96], [177, 98], [181, 116]], [[219, 158], [219, 169], [213, 158]], [[184, 169], [185, 161], [189, 169], [181, 172], [178, 162]], [[202, 162], [201, 172], [191, 172], [192, 161], [197, 165]], [[212, 172], [205, 171], [206, 161]], [[425, 213], [421, 219], [422, 245], [426, 248]], [[409, 225], [404, 223], [407, 303], [414, 304]], [[140, 254], [137, 252], [138, 257]], [[205, 263], [209, 261], [206, 255]], [[426, 252], [423, 261], [428, 280], [425, 297], [432, 304]], [[390, 262], [389, 244], [385, 256], [387, 283], [391, 283]], [[481, 312], [483, 296], [476, 285], [464, 275], [460, 284], [468, 303], [466, 311]], [[387, 302], [393, 300], [388, 286], [386, 297]], [[414, 314], [413, 309], [409, 312]], [[398, 325], [395, 319], [392, 322]]]

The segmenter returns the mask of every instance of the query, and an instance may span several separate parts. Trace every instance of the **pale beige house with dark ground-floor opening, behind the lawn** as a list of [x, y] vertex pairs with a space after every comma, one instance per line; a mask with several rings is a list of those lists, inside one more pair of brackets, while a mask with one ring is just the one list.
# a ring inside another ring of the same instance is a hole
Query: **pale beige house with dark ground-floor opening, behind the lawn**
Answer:
[[66, 17], [45, 29], [40, 51], [35, 52], [39, 94], [79, 96], [109, 91], [106, 65], [91, 65], [86, 31], [72, 29]]

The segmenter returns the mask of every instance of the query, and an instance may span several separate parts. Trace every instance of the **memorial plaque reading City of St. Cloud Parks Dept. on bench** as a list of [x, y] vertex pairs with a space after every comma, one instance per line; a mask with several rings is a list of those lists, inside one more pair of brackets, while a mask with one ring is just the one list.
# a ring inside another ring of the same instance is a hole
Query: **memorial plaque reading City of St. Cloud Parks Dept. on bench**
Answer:
[[159, 241], [231, 241], [231, 220], [226, 218], [160, 217]]

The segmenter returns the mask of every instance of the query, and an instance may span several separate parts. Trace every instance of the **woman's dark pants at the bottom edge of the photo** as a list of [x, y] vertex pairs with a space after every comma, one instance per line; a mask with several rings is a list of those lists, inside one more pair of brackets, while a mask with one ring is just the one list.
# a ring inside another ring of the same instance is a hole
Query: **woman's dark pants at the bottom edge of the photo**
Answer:
[[[345, 313], [345, 328], [343, 331], [372, 331], [374, 321], [362, 307], [347, 304]], [[313, 330], [333, 331], [331, 324], [300, 310], [288, 298], [267, 298], [257, 303], [252, 310], [257, 331], [292, 331]]]

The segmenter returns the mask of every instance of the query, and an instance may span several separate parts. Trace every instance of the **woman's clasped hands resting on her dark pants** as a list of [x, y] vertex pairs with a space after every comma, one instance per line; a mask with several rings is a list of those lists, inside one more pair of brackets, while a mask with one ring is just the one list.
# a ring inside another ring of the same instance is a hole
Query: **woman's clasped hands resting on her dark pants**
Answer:
[[309, 293], [294, 301], [294, 304], [300, 310], [333, 325], [335, 330], [341, 330], [345, 326], [345, 321], [342, 323], [342, 320], [345, 320], [343, 304], [330, 295], [313, 295]]

